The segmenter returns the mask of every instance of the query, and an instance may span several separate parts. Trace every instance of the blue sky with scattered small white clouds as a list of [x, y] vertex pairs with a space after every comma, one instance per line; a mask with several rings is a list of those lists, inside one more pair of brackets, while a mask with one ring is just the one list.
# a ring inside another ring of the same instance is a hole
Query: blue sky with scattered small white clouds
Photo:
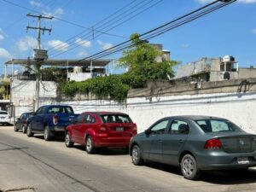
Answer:
[[[4, 73], [3, 63], [10, 58], [32, 57], [37, 33], [33, 30], [26, 32], [26, 26], [36, 26], [37, 20], [26, 17], [26, 14], [38, 15], [40, 12], [57, 17], [54, 20], [42, 20], [43, 27], [52, 27], [50, 35], [48, 32], [42, 35], [42, 45], [44, 49], [49, 49], [49, 58], [81, 59], [127, 40], [133, 32], [147, 32], [210, 2], [0, 0], [0, 74]], [[133, 12], [124, 13], [129, 8]], [[119, 9], [123, 11], [119, 12], [119, 20], [105, 23], [105, 26], [100, 26], [101, 23], [96, 25]], [[95, 29], [94, 38], [92, 30], [88, 30], [92, 27]], [[110, 27], [113, 29], [106, 32]], [[233, 55], [240, 67], [256, 67], [256, 0], [238, 0], [199, 20], [153, 38], [150, 43], [163, 44], [164, 49], [171, 51], [172, 60], [183, 64], [201, 57]], [[57, 44], [61, 46], [55, 47]], [[118, 59], [120, 55], [109, 55], [108, 58]], [[18, 69], [15, 67], [15, 70]]]

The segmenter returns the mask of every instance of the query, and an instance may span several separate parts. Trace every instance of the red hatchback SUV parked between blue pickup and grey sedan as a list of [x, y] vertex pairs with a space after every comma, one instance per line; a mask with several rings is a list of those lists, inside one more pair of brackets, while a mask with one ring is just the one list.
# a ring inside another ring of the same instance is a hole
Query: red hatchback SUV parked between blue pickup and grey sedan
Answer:
[[85, 145], [87, 153], [92, 154], [102, 147], [128, 149], [135, 135], [137, 125], [126, 113], [87, 112], [67, 126], [65, 143], [68, 148], [73, 143]]

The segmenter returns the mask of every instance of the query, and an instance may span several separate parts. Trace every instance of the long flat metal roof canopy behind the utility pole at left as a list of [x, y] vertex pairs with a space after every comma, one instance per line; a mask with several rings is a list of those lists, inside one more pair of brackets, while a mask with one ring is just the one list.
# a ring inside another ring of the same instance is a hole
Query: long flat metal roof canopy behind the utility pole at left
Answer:
[[[92, 61], [93, 67], [105, 67], [112, 60], [95, 60]], [[12, 59], [10, 61], [6, 61], [6, 65], [34, 65], [36, 63], [33, 59]], [[90, 67], [90, 60], [45, 60], [41, 63], [44, 66], [83, 66]]]

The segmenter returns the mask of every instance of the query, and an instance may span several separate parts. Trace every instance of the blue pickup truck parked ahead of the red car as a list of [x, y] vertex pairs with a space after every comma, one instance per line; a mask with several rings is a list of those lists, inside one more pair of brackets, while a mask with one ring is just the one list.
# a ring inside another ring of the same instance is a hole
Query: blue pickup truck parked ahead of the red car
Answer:
[[64, 136], [66, 126], [77, 116], [67, 105], [42, 106], [28, 119], [26, 135], [32, 137], [34, 133], [44, 133], [45, 141], [58, 134]]

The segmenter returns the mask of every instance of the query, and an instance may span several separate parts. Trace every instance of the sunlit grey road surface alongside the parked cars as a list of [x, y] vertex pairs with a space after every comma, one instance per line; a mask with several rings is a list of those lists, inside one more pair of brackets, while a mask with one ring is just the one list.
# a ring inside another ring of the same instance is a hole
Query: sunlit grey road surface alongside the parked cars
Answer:
[[61, 139], [45, 142], [0, 126], [0, 191], [255, 192], [256, 169], [207, 172], [189, 181], [177, 167], [133, 166], [121, 149], [86, 154], [79, 145], [66, 148]]

